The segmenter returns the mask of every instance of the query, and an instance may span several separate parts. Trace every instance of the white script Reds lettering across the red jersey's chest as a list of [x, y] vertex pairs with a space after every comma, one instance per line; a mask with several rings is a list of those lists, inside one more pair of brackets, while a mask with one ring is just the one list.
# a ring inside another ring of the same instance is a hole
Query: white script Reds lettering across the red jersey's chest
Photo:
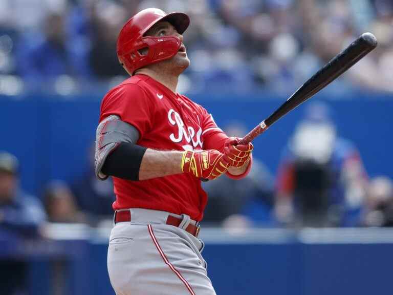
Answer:
[[171, 133], [169, 135], [169, 139], [172, 140], [173, 142], [180, 142], [184, 139], [190, 143], [192, 142], [193, 147], [197, 147], [198, 145], [202, 148], [202, 142], [201, 142], [201, 134], [202, 134], [202, 129], [201, 127], [199, 128], [198, 132], [195, 133], [195, 130], [192, 127], [187, 127], [187, 129], [184, 126], [184, 122], [182, 118], [180, 117], [179, 113], [174, 111], [173, 109], [170, 109], [168, 112], [168, 120], [169, 122], [175, 126], [177, 125], [178, 127], [178, 134], [174, 135]]

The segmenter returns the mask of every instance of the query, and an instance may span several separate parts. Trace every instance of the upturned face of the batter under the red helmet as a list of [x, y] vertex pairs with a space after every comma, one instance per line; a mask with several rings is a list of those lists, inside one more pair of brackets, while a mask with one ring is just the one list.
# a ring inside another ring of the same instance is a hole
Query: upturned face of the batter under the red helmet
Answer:
[[146, 33], [145, 36], [154, 36], [154, 37], [165, 37], [165, 36], [177, 36], [182, 41], [182, 45], [178, 51], [178, 53], [170, 59], [163, 60], [158, 64], [161, 64], [165, 67], [174, 66], [177, 68], [183, 69], [184, 71], [189, 65], [190, 60], [187, 56], [186, 47], [183, 44], [183, 35], [179, 34], [175, 27], [168, 22], [158, 22], [154, 26], [152, 26]]

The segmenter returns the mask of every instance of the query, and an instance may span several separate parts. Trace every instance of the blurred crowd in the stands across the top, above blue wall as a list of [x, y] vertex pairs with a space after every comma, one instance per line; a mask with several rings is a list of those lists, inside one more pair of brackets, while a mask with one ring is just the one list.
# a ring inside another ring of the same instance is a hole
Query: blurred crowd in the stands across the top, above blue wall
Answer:
[[191, 17], [180, 92], [292, 92], [364, 31], [379, 48], [336, 88], [393, 90], [390, 0], [1, 0], [0, 93], [107, 89], [125, 76], [117, 34], [146, 7]]

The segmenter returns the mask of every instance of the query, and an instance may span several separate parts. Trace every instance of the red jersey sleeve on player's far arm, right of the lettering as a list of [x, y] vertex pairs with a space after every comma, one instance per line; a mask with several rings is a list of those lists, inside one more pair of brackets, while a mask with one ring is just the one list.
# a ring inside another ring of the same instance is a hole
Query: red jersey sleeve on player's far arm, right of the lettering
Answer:
[[213, 116], [201, 107], [202, 112], [202, 140], [204, 150], [222, 151], [228, 136], [215, 123]]

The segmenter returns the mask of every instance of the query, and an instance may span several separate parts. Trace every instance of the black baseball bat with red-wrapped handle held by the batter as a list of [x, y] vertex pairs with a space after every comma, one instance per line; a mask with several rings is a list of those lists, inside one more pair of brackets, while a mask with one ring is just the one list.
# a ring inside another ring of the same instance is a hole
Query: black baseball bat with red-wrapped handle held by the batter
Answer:
[[259, 134], [264, 133], [283, 115], [288, 114], [355, 65], [356, 62], [375, 49], [377, 44], [377, 38], [372, 33], [362, 34], [353, 41], [350, 46], [336, 55], [328, 64], [308, 79], [286, 102], [281, 104], [273, 114], [260, 122], [253, 130], [243, 137], [239, 144], [249, 143]]

